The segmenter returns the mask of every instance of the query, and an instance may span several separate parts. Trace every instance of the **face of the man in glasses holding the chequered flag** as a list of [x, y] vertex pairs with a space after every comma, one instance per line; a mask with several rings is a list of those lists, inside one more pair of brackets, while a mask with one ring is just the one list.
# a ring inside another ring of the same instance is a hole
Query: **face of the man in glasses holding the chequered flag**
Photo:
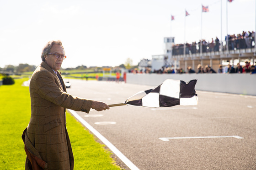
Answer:
[[[65, 55], [63, 48], [60, 45], [53, 45], [52, 48], [50, 49], [51, 54], [60, 54], [60, 55]], [[61, 64], [62, 64], [62, 57], [60, 56], [58, 59], [54, 55], [45, 55], [45, 62], [54, 70], [57, 71], [60, 69]]]

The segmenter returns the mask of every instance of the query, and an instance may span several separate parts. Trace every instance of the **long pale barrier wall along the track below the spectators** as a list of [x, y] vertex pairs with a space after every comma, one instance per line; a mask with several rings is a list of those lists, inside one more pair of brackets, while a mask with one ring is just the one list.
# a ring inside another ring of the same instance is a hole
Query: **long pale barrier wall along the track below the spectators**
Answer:
[[152, 87], [166, 79], [197, 79], [196, 90], [256, 95], [256, 74], [127, 74], [127, 83]]

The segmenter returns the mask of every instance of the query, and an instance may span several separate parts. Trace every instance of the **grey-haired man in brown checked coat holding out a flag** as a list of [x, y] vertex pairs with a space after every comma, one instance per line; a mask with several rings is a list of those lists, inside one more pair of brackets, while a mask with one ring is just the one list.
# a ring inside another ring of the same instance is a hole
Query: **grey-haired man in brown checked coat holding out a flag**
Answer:
[[59, 73], [66, 58], [61, 41], [43, 48], [40, 66], [30, 85], [31, 119], [22, 139], [27, 154], [26, 170], [73, 170], [74, 157], [66, 129], [66, 108], [89, 113], [109, 109], [100, 101], [72, 96], [66, 92]]

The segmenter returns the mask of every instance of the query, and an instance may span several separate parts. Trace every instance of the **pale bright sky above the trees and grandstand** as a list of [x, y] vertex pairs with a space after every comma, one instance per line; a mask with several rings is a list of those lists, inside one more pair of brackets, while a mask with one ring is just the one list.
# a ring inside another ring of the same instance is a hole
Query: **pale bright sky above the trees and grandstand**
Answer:
[[224, 40], [255, 28], [256, 0], [0, 0], [0, 67], [40, 65], [50, 40], [63, 43], [62, 68], [137, 65], [164, 54], [164, 37]]

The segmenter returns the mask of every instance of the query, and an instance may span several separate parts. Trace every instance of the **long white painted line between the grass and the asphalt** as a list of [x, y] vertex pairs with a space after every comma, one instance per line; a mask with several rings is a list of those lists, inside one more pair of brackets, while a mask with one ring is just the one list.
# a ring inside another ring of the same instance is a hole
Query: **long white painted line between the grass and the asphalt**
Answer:
[[120, 160], [123, 161], [131, 170], [139, 170], [139, 168], [134, 165], [122, 152], [120, 152], [110, 141], [108, 141], [103, 135], [100, 134], [96, 129], [94, 129], [89, 123], [87, 123], [83, 118], [80, 117], [74, 110], [68, 109], [68, 111], [75, 116], [85, 127], [90, 130], [94, 135], [97, 136], [112, 152], [117, 155]]

